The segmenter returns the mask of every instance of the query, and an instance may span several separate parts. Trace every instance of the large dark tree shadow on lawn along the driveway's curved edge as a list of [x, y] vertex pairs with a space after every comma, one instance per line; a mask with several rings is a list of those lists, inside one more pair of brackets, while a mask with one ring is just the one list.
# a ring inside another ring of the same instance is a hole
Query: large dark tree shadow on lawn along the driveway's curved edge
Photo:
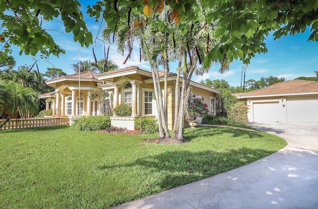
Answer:
[[[111, 173], [114, 169], [122, 169], [123, 172], [134, 170], [135, 175], [144, 176], [145, 179], [142, 181], [147, 184], [147, 187], [157, 188], [151, 192], [155, 194], [224, 173], [268, 156], [275, 151], [248, 148], [229, 149], [224, 152], [171, 150], [148, 155], [130, 163], [105, 164], [99, 166], [98, 169], [105, 173]], [[140, 172], [140, 174], [136, 174], [136, 172]]]

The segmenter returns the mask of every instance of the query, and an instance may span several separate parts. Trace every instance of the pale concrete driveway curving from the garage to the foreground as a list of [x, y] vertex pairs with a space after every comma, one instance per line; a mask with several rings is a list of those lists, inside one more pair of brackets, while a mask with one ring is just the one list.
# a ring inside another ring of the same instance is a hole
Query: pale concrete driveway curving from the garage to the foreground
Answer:
[[317, 209], [318, 124], [249, 125], [288, 145], [249, 165], [114, 208]]

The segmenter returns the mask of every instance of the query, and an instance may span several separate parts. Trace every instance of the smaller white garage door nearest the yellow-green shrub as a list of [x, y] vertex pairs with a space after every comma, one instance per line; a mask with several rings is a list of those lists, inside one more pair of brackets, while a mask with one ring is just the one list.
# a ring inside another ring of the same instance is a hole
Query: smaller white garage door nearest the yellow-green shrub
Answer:
[[253, 103], [254, 122], [282, 122], [279, 102]]

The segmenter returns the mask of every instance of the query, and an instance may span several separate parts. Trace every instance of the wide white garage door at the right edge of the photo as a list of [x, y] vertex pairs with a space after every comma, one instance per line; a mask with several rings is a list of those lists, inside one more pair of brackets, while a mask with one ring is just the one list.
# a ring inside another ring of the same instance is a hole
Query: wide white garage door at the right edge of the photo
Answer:
[[286, 97], [287, 122], [318, 123], [318, 96]]

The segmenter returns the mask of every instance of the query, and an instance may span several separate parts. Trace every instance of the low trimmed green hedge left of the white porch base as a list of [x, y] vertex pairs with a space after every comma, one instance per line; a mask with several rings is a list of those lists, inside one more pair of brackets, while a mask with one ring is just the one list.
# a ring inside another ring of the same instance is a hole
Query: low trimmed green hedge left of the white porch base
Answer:
[[80, 117], [73, 120], [71, 128], [79, 131], [98, 131], [110, 127], [107, 116]]

